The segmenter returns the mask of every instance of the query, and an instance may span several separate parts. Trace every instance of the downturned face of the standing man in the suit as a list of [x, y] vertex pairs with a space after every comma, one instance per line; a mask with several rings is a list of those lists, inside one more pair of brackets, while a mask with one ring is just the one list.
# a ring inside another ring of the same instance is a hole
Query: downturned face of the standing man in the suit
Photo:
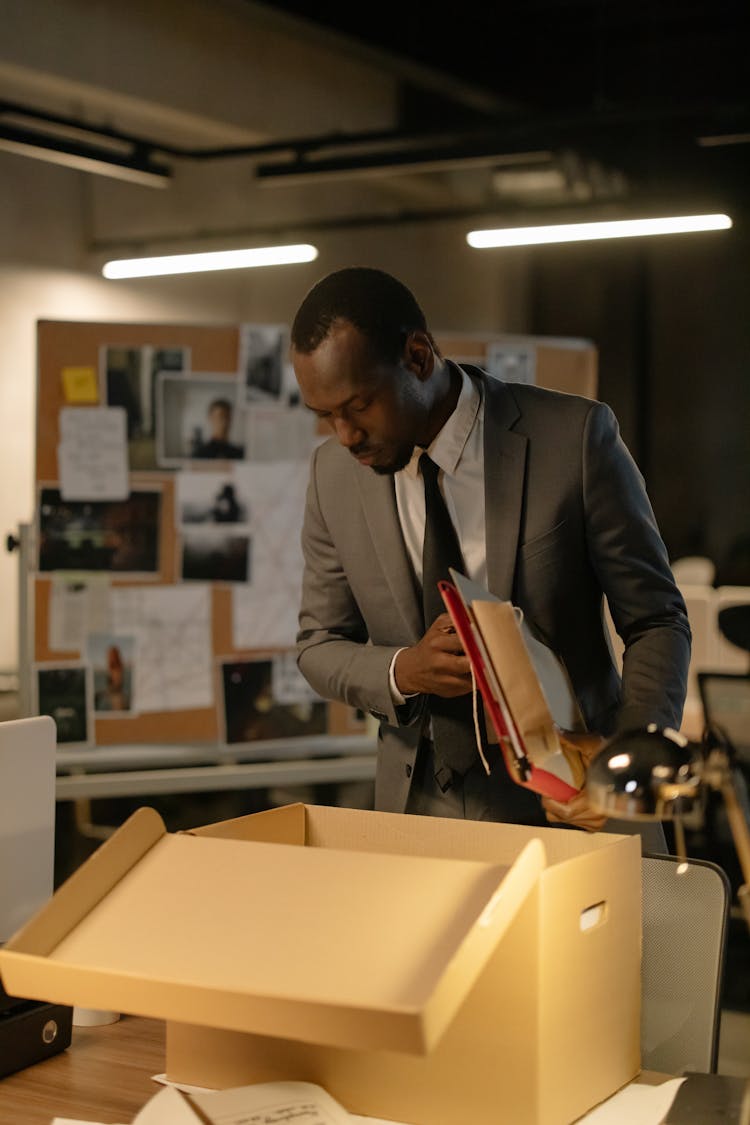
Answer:
[[421, 443], [431, 397], [409, 363], [373, 360], [369, 343], [349, 322], [335, 326], [309, 356], [292, 354], [306, 405], [341, 444], [376, 472], [397, 472]]

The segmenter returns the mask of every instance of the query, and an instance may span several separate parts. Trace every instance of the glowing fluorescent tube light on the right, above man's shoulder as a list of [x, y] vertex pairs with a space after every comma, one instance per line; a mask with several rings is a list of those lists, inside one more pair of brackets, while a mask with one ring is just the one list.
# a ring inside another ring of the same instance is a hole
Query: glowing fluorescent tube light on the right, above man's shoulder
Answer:
[[594, 238], [635, 238], [652, 234], [725, 231], [729, 215], [680, 215], [672, 218], [630, 218], [611, 223], [561, 223], [557, 226], [516, 226], [470, 231], [467, 242], [477, 250], [490, 246], [533, 246], [544, 242], [589, 242]]

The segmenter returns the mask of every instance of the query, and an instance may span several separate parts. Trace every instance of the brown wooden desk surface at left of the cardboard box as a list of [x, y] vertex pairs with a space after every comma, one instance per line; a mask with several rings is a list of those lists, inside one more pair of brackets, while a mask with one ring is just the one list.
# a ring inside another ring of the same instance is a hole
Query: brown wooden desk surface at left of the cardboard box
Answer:
[[74, 1027], [62, 1054], [0, 1081], [0, 1125], [51, 1125], [55, 1116], [128, 1125], [157, 1092], [151, 1078], [163, 1073], [164, 1058], [161, 1020]]

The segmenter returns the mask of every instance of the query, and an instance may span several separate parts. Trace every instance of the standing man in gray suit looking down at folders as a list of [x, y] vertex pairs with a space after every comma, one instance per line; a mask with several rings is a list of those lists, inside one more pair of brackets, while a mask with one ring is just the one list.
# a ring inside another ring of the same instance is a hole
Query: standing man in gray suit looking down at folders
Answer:
[[[612, 411], [446, 360], [413, 294], [379, 270], [319, 281], [291, 356], [305, 403], [336, 438], [311, 461], [299, 667], [320, 695], [380, 720], [377, 808], [603, 827], [585, 790], [564, 806], [540, 800], [499, 753], [488, 777], [478, 753], [457, 765], [439, 746], [443, 709], [470, 699], [471, 677], [450, 618], [432, 620], [421, 587], [436, 475], [462, 573], [518, 605], [564, 663], [591, 732], [582, 749], [615, 729], [678, 727], [687, 615]], [[603, 595], [625, 644], [622, 683]]]

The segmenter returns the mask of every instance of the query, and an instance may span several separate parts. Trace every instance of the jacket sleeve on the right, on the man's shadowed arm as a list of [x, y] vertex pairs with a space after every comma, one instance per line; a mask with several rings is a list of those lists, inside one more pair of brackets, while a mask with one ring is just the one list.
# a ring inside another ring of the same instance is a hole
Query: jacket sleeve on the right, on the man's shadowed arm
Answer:
[[679, 729], [690, 659], [687, 611], [643, 477], [603, 403], [586, 420], [582, 478], [589, 558], [625, 646], [616, 727]]

